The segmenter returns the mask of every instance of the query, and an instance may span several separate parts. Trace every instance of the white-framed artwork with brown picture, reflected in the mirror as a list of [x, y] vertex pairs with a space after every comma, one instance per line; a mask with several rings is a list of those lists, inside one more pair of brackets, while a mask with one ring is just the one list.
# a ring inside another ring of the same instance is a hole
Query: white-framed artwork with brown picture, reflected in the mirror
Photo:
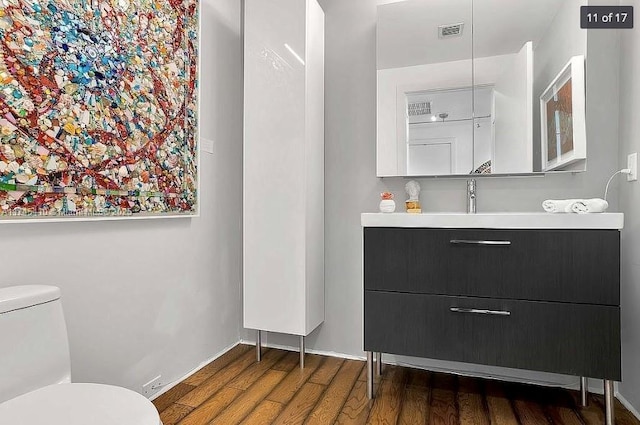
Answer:
[[587, 157], [584, 56], [574, 56], [540, 96], [542, 171]]

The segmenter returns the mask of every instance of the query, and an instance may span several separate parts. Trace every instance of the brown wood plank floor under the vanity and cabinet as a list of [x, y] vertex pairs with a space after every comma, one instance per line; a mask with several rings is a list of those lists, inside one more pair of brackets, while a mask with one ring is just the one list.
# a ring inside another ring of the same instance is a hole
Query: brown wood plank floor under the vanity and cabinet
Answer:
[[[164, 425], [438, 424], [601, 425], [602, 397], [577, 405], [578, 393], [385, 366], [376, 398], [366, 396], [365, 363], [238, 345], [154, 404]], [[616, 423], [640, 421], [616, 400]]]

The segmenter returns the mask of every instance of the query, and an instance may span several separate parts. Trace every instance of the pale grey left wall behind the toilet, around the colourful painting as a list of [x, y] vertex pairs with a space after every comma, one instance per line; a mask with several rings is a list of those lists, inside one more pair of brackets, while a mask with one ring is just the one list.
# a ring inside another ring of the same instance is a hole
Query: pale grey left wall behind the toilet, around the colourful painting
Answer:
[[2, 224], [0, 286], [62, 289], [75, 381], [141, 391], [238, 340], [241, 281], [240, 4], [202, 3], [201, 217]]

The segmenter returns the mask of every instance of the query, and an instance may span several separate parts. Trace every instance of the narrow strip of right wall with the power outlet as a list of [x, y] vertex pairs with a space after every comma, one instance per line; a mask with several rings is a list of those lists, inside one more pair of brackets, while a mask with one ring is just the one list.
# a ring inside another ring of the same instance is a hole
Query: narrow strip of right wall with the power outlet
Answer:
[[[640, 29], [622, 30], [620, 64], [620, 168], [640, 151]], [[620, 394], [640, 412], [640, 183], [619, 178], [622, 233], [622, 372]]]

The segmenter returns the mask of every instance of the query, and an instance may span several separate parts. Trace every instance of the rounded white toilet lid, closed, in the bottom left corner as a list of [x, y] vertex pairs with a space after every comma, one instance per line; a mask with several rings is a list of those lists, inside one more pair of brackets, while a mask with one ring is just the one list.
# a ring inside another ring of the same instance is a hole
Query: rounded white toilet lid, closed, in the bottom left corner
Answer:
[[20, 425], [160, 425], [142, 395], [100, 384], [57, 384], [0, 404], [0, 423]]

